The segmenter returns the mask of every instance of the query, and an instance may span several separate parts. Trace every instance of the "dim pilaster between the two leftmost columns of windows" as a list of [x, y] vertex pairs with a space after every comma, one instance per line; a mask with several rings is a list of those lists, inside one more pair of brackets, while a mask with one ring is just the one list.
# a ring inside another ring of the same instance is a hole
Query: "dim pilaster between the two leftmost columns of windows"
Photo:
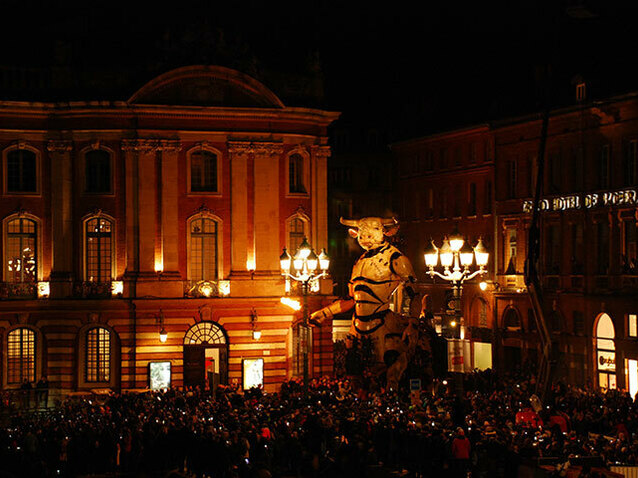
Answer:
[[49, 141], [53, 258], [51, 298], [69, 297], [73, 286], [73, 143]]

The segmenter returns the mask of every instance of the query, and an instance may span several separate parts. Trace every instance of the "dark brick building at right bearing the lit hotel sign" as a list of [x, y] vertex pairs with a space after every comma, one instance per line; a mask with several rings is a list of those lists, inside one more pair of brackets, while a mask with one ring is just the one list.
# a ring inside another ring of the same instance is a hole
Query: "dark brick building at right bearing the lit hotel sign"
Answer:
[[[576, 105], [550, 115], [541, 204], [546, 319], [559, 377], [636, 393], [638, 94], [588, 102], [584, 87]], [[497, 369], [539, 353], [523, 272], [540, 130], [534, 115], [393, 145], [410, 257], [435, 313], [449, 286], [425, 278], [425, 241], [440, 244], [457, 223], [469, 238], [487, 239], [487, 289], [464, 287], [463, 315], [467, 337], [492, 344]]]

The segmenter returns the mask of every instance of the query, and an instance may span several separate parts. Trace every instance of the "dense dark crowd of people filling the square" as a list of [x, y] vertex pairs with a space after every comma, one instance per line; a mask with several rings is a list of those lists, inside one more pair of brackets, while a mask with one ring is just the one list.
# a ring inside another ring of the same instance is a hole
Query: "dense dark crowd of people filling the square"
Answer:
[[[371, 383], [364, 381], [364, 384]], [[67, 400], [5, 413], [0, 470], [15, 476], [516, 476], [539, 457], [638, 461], [638, 404], [627, 393], [557, 384], [530, 400], [533, 378], [468, 377], [396, 396], [347, 379], [259, 389], [170, 389]], [[10, 476], [10, 475], [8, 475]]]

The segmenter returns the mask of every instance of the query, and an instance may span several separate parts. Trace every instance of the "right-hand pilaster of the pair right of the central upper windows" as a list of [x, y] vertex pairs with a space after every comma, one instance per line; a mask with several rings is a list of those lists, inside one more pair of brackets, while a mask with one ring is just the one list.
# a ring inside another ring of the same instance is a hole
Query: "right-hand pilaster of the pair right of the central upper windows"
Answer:
[[280, 143], [255, 145], [255, 263], [256, 270], [279, 274], [279, 160]]

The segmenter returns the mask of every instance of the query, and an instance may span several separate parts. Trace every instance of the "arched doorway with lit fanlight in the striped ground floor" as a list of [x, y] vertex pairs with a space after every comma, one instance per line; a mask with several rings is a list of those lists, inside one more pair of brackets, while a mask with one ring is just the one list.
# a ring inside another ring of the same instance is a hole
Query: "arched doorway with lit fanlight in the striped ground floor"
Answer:
[[184, 386], [215, 389], [228, 383], [228, 340], [215, 322], [199, 322], [184, 336]]

